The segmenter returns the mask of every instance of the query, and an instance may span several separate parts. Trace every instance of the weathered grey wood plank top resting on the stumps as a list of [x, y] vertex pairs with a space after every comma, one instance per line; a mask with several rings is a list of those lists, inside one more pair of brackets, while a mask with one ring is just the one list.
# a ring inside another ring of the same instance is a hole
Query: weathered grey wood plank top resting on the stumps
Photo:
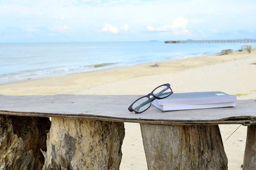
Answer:
[[255, 124], [256, 100], [237, 101], [236, 108], [162, 112], [152, 106], [141, 114], [129, 104], [140, 96], [0, 96], [0, 114], [32, 117], [91, 118], [148, 124]]

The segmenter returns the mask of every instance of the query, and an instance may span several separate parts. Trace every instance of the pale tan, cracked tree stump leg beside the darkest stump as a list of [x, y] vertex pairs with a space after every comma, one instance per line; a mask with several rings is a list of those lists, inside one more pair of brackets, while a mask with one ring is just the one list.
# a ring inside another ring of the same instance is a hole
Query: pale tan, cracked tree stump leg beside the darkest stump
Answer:
[[52, 117], [43, 169], [119, 169], [124, 123]]

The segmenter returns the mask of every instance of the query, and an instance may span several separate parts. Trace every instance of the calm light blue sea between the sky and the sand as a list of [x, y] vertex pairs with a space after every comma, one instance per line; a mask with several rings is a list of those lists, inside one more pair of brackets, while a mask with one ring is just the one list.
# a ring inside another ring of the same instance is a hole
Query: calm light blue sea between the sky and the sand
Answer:
[[[256, 43], [0, 43], [0, 84], [234, 51]], [[225, 57], [225, 55], [223, 55]]]

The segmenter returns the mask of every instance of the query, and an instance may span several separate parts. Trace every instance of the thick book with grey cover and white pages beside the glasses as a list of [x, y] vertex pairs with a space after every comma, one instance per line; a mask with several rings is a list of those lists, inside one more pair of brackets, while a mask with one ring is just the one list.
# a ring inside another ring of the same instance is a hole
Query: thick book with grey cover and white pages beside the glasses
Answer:
[[152, 104], [163, 111], [235, 107], [236, 96], [224, 92], [174, 93]]

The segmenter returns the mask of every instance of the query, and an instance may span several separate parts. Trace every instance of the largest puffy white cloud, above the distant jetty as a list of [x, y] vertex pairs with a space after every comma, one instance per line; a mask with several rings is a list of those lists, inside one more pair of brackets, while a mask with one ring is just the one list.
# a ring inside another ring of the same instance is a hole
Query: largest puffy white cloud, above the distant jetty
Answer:
[[162, 25], [161, 27], [157, 27], [156, 29], [148, 25], [147, 29], [149, 31], [170, 31], [173, 34], [190, 34], [189, 30], [186, 29], [187, 24], [188, 20], [182, 17], [178, 17], [173, 20], [172, 25]]

